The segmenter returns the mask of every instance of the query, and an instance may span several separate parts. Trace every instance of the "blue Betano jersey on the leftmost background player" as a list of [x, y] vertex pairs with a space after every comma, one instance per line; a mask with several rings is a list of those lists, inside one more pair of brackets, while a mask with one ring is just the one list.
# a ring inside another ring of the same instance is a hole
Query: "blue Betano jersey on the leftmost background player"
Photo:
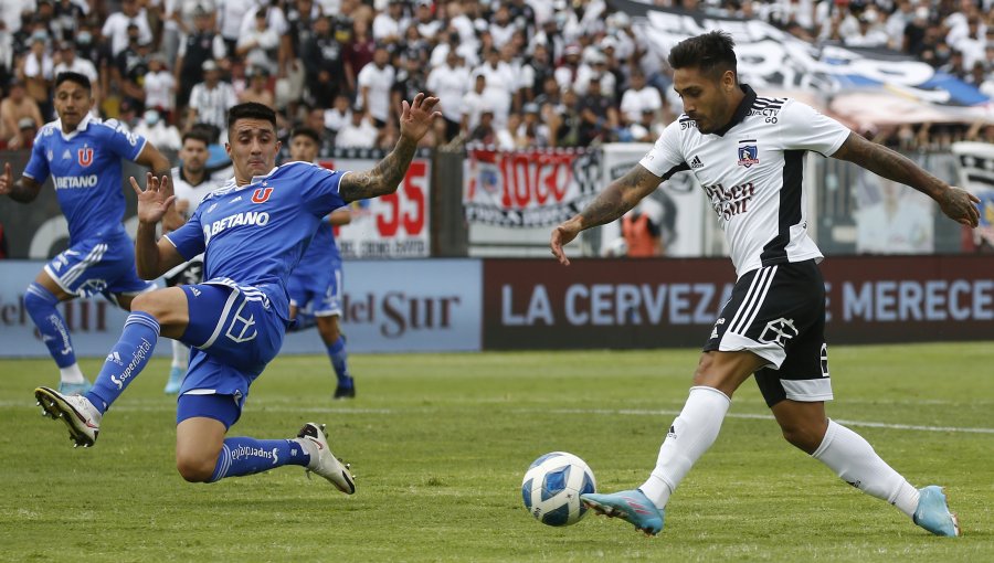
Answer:
[[38, 183], [52, 176], [68, 222], [70, 245], [124, 232], [120, 159], [137, 159], [145, 142], [116, 120], [101, 121], [89, 115], [68, 135], [57, 119], [38, 131], [24, 176]]

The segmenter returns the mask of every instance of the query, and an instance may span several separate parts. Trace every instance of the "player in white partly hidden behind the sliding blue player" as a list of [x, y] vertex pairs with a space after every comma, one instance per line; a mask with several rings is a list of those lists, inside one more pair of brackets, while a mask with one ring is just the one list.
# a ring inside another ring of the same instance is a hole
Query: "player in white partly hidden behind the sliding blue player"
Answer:
[[[211, 179], [207, 169], [210, 157], [209, 147], [211, 138], [200, 129], [191, 129], [183, 134], [183, 144], [180, 147], [179, 158], [182, 162], [172, 169], [172, 191], [176, 194], [176, 210], [183, 221], [189, 220], [203, 199], [221, 184]], [[203, 282], [203, 255], [197, 256], [190, 262], [184, 262], [170, 269], [163, 276], [167, 287], [179, 285], [192, 285]], [[172, 365], [169, 369], [169, 380], [166, 382], [166, 393], [175, 395], [179, 393], [187, 375], [190, 363], [190, 347], [172, 341]]]

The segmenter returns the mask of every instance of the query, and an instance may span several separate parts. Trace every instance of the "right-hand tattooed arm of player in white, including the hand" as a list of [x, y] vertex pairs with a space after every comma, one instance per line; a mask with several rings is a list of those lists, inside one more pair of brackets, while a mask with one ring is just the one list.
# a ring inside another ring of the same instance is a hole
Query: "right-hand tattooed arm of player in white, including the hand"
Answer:
[[914, 188], [935, 200], [942, 212], [958, 223], [975, 227], [980, 220], [980, 211], [975, 205], [980, 200], [976, 195], [949, 185], [903, 155], [870, 142], [855, 132], [849, 134], [832, 158], [848, 160], [877, 176]]

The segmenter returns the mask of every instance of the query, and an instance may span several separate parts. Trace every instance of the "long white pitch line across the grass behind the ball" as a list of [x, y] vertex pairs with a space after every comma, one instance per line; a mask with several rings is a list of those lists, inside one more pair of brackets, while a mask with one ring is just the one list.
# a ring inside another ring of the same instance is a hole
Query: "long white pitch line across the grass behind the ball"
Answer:
[[[29, 405], [24, 401], [0, 401], [0, 408], [25, 407]], [[277, 413], [321, 413], [321, 414], [402, 414], [402, 413], [437, 413], [440, 408], [355, 408], [355, 407], [319, 407], [319, 406], [293, 406], [286, 403], [252, 403], [250, 408], [260, 411], [269, 411]], [[159, 402], [141, 401], [139, 404], [130, 402], [130, 404], [115, 405], [114, 412], [175, 412], [176, 406], [162, 404]], [[638, 408], [516, 408], [512, 412], [520, 414], [596, 414], [596, 415], [623, 415], [623, 416], [676, 416], [679, 411], [669, 410], [638, 410]], [[729, 413], [728, 418], [740, 418], [747, 421], [773, 421], [773, 416], [769, 414], [751, 414], [751, 413]], [[833, 418], [839, 424], [847, 426], [864, 426], [867, 428], [887, 428], [893, 431], [916, 431], [916, 432], [950, 432], [960, 434], [994, 434], [994, 428], [971, 428], [961, 426], [926, 426], [920, 424], [891, 424], [871, 421], [848, 421], [843, 418]]]

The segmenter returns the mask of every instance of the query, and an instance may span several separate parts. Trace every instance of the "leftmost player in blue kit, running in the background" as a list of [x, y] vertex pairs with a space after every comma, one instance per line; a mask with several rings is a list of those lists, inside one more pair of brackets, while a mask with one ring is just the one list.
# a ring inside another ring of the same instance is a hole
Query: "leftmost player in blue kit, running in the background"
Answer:
[[[103, 294], [125, 310], [131, 299], [155, 288], [135, 272], [135, 247], [125, 233], [125, 199], [120, 159], [169, 173], [169, 160], [142, 137], [116, 121], [91, 116], [89, 78], [61, 73], [55, 78], [59, 119], [38, 131], [31, 160], [20, 180], [13, 181], [10, 163], [0, 176], [0, 195], [30, 203], [49, 176], [59, 205], [68, 222], [70, 245], [49, 262], [24, 294], [24, 308], [38, 327], [61, 373], [63, 393], [86, 392], [91, 384], [80, 371], [68, 329], [57, 305]], [[167, 223], [178, 226], [178, 214]]]

